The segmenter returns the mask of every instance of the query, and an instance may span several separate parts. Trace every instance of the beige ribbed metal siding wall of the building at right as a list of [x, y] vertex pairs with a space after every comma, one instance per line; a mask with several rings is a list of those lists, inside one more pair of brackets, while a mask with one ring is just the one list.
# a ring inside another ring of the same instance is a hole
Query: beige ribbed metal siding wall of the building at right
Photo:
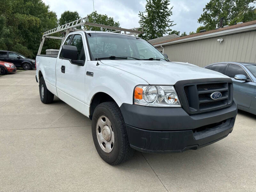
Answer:
[[[219, 43], [217, 39], [223, 39]], [[157, 47], [162, 50], [161, 47]], [[197, 41], [164, 46], [172, 61], [204, 67], [214, 62], [241, 61], [256, 63], [256, 31], [247, 31]]]

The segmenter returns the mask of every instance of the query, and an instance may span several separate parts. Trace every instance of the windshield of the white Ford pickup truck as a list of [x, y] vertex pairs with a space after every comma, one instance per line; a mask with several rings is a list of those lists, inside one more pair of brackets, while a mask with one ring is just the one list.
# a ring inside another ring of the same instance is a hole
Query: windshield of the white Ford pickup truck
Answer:
[[[97, 35], [96, 35], [97, 34]], [[96, 37], [97, 48], [96, 48]], [[92, 60], [124, 56], [126, 60], [158, 58], [169, 61], [153, 45], [134, 37], [109, 33], [86, 33]], [[122, 58], [117, 58], [122, 59]]]

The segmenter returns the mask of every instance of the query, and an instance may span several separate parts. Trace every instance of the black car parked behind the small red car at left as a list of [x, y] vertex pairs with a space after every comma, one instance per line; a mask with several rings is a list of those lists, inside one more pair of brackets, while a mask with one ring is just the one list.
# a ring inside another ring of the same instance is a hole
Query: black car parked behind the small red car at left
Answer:
[[36, 68], [36, 61], [28, 59], [24, 55], [12, 51], [0, 51], [0, 60], [13, 63], [16, 67], [22, 67], [25, 70]]

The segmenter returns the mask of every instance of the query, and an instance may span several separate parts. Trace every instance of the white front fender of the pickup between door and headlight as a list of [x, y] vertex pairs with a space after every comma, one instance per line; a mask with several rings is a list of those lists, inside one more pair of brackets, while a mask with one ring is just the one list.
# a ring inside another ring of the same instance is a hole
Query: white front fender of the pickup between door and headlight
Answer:
[[88, 106], [97, 92], [107, 93], [119, 107], [123, 103], [133, 104], [134, 88], [139, 84], [148, 84], [145, 80], [131, 73], [103, 63], [96, 66], [96, 63], [90, 62], [86, 68], [86, 71], [94, 73], [93, 76], [86, 76], [85, 80], [85, 103]]

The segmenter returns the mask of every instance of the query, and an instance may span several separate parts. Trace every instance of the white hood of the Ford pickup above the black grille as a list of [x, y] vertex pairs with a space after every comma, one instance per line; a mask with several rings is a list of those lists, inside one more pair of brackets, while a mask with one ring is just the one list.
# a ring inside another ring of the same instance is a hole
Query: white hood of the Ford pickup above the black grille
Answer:
[[181, 80], [228, 77], [210, 69], [183, 63], [148, 60], [100, 61], [106, 65], [136, 75], [147, 81], [148, 84], [173, 85]]

